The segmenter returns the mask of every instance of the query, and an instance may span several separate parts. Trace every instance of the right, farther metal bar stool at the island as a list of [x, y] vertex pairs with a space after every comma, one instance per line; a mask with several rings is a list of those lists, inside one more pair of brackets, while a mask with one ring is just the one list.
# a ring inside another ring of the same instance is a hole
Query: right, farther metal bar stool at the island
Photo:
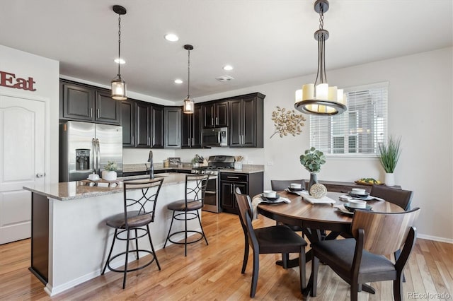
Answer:
[[[203, 226], [201, 224], [199, 211], [201, 208], [203, 208], [205, 202], [205, 191], [209, 177], [210, 175], [185, 175], [184, 199], [173, 201], [172, 203], [169, 203], [167, 205], [167, 209], [173, 211], [173, 216], [171, 218], [170, 229], [168, 229], [168, 235], [165, 240], [164, 249], [167, 242], [173, 242], [173, 244], [184, 244], [184, 256], [187, 256], [188, 244], [199, 242], [204, 238], [206, 244], [208, 245], [205, 231], [203, 231]], [[188, 220], [194, 220], [195, 218], [198, 219], [198, 223], [200, 224], [200, 231], [188, 230]], [[171, 233], [171, 228], [173, 227], [174, 220], [183, 220], [184, 230]], [[180, 233], [184, 233], [183, 242], [172, 240], [172, 237], [174, 235], [179, 235]], [[189, 241], [188, 233], [200, 235], [200, 237], [197, 237], [196, 240]]]

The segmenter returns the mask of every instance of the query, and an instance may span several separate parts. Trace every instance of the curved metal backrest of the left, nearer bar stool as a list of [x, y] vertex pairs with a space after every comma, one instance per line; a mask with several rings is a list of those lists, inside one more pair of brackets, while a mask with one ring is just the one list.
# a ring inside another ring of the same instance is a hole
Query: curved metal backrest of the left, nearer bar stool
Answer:
[[[151, 221], [154, 221], [157, 198], [161, 191], [161, 179], [140, 179], [123, 182], [125, 223], [127, 228], [128, 211], [139, 211], [139, 215], [149, 214]], [[131, 196], [134, 191], [133, 197]]]

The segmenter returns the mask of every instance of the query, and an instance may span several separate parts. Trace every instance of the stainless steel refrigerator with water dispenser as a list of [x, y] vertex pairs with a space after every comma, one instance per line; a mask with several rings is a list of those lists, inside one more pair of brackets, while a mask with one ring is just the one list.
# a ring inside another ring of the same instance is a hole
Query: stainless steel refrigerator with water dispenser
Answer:
[[79, 181], [93, 172], [101, 177], [108, 161], [122, 176], [122, 126], [64, 122], [59, 125], [59, 182]]

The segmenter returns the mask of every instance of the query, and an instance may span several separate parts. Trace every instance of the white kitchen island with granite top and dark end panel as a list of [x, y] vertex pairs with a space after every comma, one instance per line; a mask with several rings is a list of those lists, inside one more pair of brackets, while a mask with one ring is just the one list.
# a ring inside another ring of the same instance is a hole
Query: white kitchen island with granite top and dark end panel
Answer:
[[[164, 177], [164, 182], [150, 230], [154, 248], [161, 249], [172, 216], [166, 205], [184, 198], [185, 175], [168, 173], [156, 177]], [[127, 179], [137, 178], [140, 177]], [[45, 291], [55, 295], [101, 275], [114, 232], [105, 225], [105, 220], [124, 210], [122, 182], [116, 187], [64, 182], [23, 188], [32, 192], [30, 271], [45, 283]], [[188, 223], [188, 227], [200, 230], [197, 221], [190, 220]], [[175, 224], [173, 229], [183, 230], [183, 224]], [[145, 238], [139, 240], [139, 244], [149, 248]], [[115, 244], [113, 254], [124, 251], [124, 248], [124, 244]], [[130, 256], [130, 261], [134, 260], [134, 256]], [[111, 264], [114, 268], [122, 265], [122, 256]]]

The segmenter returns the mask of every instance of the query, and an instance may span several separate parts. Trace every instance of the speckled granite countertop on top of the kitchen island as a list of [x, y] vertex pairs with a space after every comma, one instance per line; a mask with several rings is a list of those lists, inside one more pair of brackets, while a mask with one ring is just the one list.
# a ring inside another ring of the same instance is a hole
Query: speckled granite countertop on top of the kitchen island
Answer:
[[[156, 179], [164, 177], [162, 186], [185, 183], [185, 174], [164, 173], [155, 175]], [[106, 194], [117, 194], [122, 192], [122, 181], [134, 179], [147, 179], [148, 176], [119, 177], [120, 181], [116, 187], [98, 187], [88, 186], [81, 181], [64, 182], [46, 185], [35, 185], [32, 187], [23, 187], [23, 189], [48, 196], [60, 201], [69, 201], [74, 199], [84, 199], [93, 196], [103, 196]]]

